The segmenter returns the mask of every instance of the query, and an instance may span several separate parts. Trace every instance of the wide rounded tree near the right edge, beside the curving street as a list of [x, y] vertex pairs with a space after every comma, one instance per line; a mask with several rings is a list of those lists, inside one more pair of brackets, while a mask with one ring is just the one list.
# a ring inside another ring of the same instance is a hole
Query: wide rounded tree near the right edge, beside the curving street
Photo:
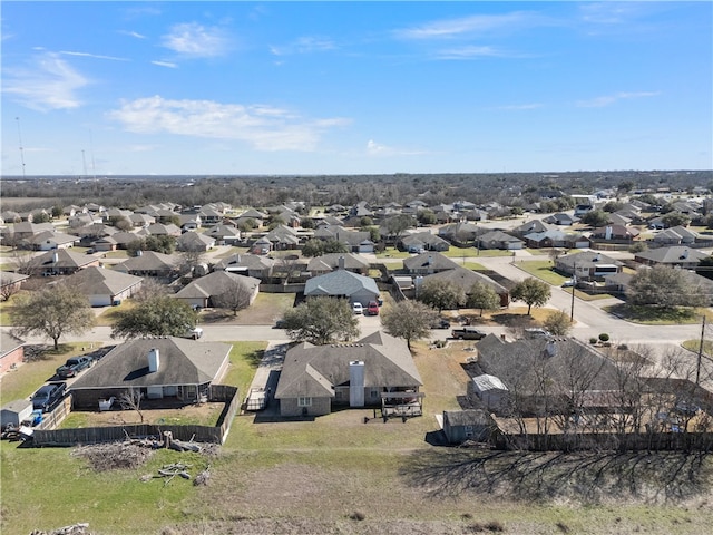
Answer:
[[641, 268], [626, 290], [633, 305], [672, 309], [675, 307], [702, 307], [705, 293], [691, 273], [665, 265]]

